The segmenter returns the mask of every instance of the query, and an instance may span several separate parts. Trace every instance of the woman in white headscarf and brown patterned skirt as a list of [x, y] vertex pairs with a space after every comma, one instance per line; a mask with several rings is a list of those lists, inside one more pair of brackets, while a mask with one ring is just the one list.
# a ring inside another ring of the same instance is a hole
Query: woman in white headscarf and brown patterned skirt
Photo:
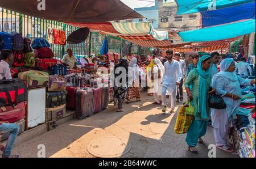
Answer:
[[[137, 65], [137, 58], [132, 58], [129, 64], [128, 75], [132, 80], [129, 82], [129, 88], [127, 91], [127, 103], [133, 98], [137, 99], [137, 102], [141, 102], [141, 90], [139, 86], [139, 76], [141, 76], [143, 71], [139, 69]], [[131, 86], [131, 87], [130, 87]]]

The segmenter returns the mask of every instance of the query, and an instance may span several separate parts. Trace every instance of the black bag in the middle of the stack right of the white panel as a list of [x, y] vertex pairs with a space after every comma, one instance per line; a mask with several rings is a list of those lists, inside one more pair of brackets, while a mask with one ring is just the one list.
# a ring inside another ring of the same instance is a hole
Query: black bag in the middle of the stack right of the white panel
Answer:
[[67, 91], [46, 92], [46, 108], [57, 107], [67, 103]]

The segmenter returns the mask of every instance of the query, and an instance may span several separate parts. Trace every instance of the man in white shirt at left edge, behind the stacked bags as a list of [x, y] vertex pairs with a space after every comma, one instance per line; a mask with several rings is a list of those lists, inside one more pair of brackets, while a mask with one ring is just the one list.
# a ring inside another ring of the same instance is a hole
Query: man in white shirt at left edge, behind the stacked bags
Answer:
[[0, 80], [12, 79], [10, 63], [14, 59], [13, 53], [10, 50], [2, 50], [0, 57]]

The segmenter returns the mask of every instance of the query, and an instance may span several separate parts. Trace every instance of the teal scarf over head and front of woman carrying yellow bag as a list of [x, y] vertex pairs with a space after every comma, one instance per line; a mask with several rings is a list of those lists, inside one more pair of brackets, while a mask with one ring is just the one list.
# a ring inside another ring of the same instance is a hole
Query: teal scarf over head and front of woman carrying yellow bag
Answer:
[[199, 62], [197, 63], [196, 70], [199, 73], [199, 105], [198, 105], [198, 111], [195, 112], [195, 117], [197, 116], [197, 113], [200, 112], [200, 118], [201, 119], [208, 119], [208, 113], [207, 113], [207, 107], [208, 107], [208, 91], [209, 87], [207, 86], [207, 78], [210, 75], [210, 70], [212, 69], [212, 66], [209, 67], [206, 71], [202, 68], [202, 62], [205, 61], [207, 58], [210, 58], [208, 55], [204, 55], [200, 58]]

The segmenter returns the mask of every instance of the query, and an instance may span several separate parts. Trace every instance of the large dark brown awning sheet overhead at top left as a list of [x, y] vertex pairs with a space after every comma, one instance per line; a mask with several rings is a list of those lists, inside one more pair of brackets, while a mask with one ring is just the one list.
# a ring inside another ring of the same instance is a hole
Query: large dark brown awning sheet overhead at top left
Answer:
[[[40, 7], [44, 7], [41, 6], [43, 2], [46, 2], [45, 10], [40, 10]], [[0, 6], [25, 15], [58, 22], [99, 23], [144, 18], [119, 0], [4, 0], [0, 1]]]

